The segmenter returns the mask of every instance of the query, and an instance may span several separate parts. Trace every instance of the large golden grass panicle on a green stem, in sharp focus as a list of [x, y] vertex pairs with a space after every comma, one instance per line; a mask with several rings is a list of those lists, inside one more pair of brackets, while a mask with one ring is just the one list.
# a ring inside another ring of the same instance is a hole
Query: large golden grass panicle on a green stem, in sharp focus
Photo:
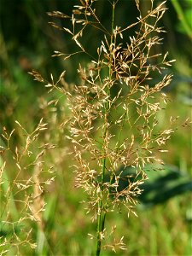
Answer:
[[[32, 75], [45, 82], [49, 92], [56, 89], [67, 96], [71, 110], [67, 138], [73, 144], [76, 160], [75, 186], [84, 189], [87, 195], [86, 209], [97, 226], [96, 235], [89, 235], [96, 240], [96, 255], [100, 255], [102, 247], [113, 251], [126, 249], [123, 236], [112, 239], [115, 225], [111, 230], [106, 229], [108, 215], [121, 211], [121, 207], [127, 209], [128, 216], [137, 215], [134, 208], [142, 193], [140, 185], [148, 179], [144, 167], [154, 163], [163, 165], [160, 154], [167, 154], [165, 145], [177, 119], [171, 117], [165, 130], [158, 128], [158, 114], [168, 101], [161, 90], [172, 81], [171, 74], [162, 75], [162, 71], [172, 65], [172, 61], [166, 60], [168, 53], [153, 54], [154, 47], [162, 44], [160, 35], [165, 32], [158, 22], [166, 11], [166, 1], [156, 7], [151, 1], [147, 15], [143, 15], [136, 1], [139, 16], [135, 23], [123, 28], [114, 23], [119, 1], [109, 2], [110, 31], [96, 15], [95, 2], [80, 0], [72, 15], [59, 11], [49, 13], [52, 17], [71, 20], [71, 27], [60, 28], [55, 22], [51, 25], [67, 32], [79, 47], [78, 52], [55, 51], [54, 56], [67, 60], [84, 53], [90, 58], [86, 66], [79, 63], [79, 83], [69, 88], [65, 71], [56, 82], [52, 74], [50, 82], [35, 71]], [[100, 45], [91, 52], [81, 43], [89, 26], [102, 32]], [[135, 32], [125, 42], [124, 37], [131, 29]], [[132, 166], [135, 173], [125, 174], [126, 166]], [[123, 190], [119, 190], [121, 180], [128, 183]]]

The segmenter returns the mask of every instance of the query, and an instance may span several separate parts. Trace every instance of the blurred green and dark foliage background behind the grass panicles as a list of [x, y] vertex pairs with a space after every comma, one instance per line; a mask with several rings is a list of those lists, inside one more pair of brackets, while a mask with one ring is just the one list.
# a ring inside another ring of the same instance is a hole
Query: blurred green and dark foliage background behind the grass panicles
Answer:
[[[47, 202], [44, 235], [38, 226], [34, 226], [32, 236], [38, 242], [38, 247], [34, 253], [30, 248], [23, 248], [23, 255], [91, 255], [94, 251], [95, 245], [87, 233], [91, 233], [96, 226], [79, 204], [79, 201], [84, 200], [84, 195], [74, 188], [73, 172], [69, 168], [71, 160], [66, 156], [66, 151], [70, 149], [65, 139], [67, 131], [60, 128], [67, 114], [65, 97], [61, 98], [56, 108], [48, 106], [47, 102], [58, 98], [59, 93], [54, 91], [48, 94], [43, 84], [33, 81], [28, 74], [35, 69], [49, 79], [50, 73], [58, 77], [63, 70], [67, 70], [67, 83], [76, 82], [79, 61], [86, 63], [89, 60], [84, 55], [74, 56], [67, 61], [51, 57], [54, 50], [71, 53], [76, 48], [66, 33], [48, 24], [53, 18], [47, 12], [59, 10], [70, 14], [73, 5], [78, 2], [0, 1], [0, 129], [2, 131], [3, 126], [6, 126], [8, 131], [12, 131], [15, 120], [19, 120], [27, 131], [32, 131], [43, 117], [49, 124], [49, 134], [44, 135], [44, 141], [57, 144], [57, 148], [47, 158], [48, 163], [55, 165], [55, 183], [47, 188], [44, 195], [44, 201]], [[168, 10], [160, 22], [167, 33], [162, 35], [164, 44], [156, 50], [163, 53], [168, 50], [169, 59], [177, 61], [168, 70], [174, 74], [172, 84], [166, 89], [172, 102], [159, 117], [162, 127], [168, 125], [170, 116], [179, 116], [179, 123], [183, 124], [185, 119], [191, 117], [192, 107], [192, 1], [168, 0], [165, 4]], [[107, 0], [99, 0], [96, 9], [102, 22], [109, 27], [111, 13], [108, 5]], [[141, 1], [141, 5], [143, 12], [146, 12], [150, 3], [148, 0]], [[137, 15], [134, 1], [119, 0], [115, 13], [116, 24], [124, 26], [127, 20], [130, 23], [135, 21]], [[65, 20], [54, 21], [59, 26], [69, 25]], [[96, 50], [93, 49], [96, 49], [101, 38], [99, 32], [93, 33], [90, 30], [86, 34], [84, 45], [94, 54]], [[22, 143], [17, 129], [12, 143]], [[169, 154], [165, 154], [163, 159], [166, 171], [160, 173], [164, 179], [158, 180], [159, 173], [150, 173], [152, 180], [147, 189], [150, 185], [154, 189], [151, 189], [150, 195], [141, 198], [137, 207], [138, 218], [127, 218], [127, 213], [123, 211], [121, 214], [114, 212], [108, 219], [108, 227], [115, 222], [118, 236], [125, 236], [128, 247], [128, 253], [118, 251], [117, 255], [191, 255], [191, 129], [179, 127], [169, 142], [168, 150]], [[11, 178], [15, 169], [9, 159], [8, 166], [7, 175]], [[173, 174], [172, 177], [170, 174]], [[148, 196], [151, 196], [150, 200]], [[10, 251], [9, 255], [13, 254], [14, 251]], [[106, 251], [102, 255], [113, 253]]]

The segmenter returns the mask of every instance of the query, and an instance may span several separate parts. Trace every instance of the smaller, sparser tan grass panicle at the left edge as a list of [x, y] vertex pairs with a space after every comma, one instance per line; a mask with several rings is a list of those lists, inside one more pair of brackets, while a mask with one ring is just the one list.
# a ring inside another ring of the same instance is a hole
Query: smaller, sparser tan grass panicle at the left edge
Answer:
[[[49, 143], [39, 144], [38, 139], [48, 129], [40, 120], [32, 131], [15, 121], [15, 130], [10, 133], [4, 127], [1, 146], [1, 253], [21, 255], [36, 248], [33, 227], [37, 224], [44, 231], [43, 212], [46, 205], [44, 191], [54, 181], [52, 167], [44, 163]], [[15, 132], [20, 134], [20, 143], [15, 146]], [[9, 160], [6, 161], [6, 160]], [[10, 176], [9, 169], [15, 172]], [[44, 174], [48, 173], [48, 178]]]

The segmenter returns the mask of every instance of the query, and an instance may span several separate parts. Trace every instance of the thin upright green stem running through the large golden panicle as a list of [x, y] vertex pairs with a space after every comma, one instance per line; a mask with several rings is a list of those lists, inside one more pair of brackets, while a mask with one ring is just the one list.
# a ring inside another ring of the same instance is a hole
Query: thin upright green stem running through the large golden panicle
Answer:
[[[113, 16], [112, 16], [112, 26], [111, 26], [111, 44], [113, 43], [113, 26], [114, 26], [114, 6], [115, 3], [113, 1]], [[111, 56], [112, 57], [112, 56]], [[108, 68], [108, 73], [109, 73], [109, 80], [112, 79], [112, 74], [111, 74], [111, 65], [109, 65]], [[110, 94], [110, 88], [108, 87], [108, 96]], [[103, 134], [103, 143], [105, 143], [105, 139], [107, 136], [107, 131], [108, 131], [108, 108], [109, 108], [109, 102], [106, 102], [106, 106], [105, 106], [105, 114], [106, 114], [106, 125], [105, 125], [105, 131]], [[106, 157], [106, 150], [105, 148], [103, 149], [103, 161], [102, 161], [102, 185], [101, 185], [101, 190], [103, 192], [103, 183], [105, 180], [105, 171], [106, 171], [106, 161], [107, 161], [107, 157]], [[103, 193], [102, 193], [103, 194]], [[98, 203], [98, 209], [99, 209], [99, 215], [98, 215], [98, 219], [97, 219], [97, 242], [96, 242], [96, 256], [99, 256], [101, 253], [101, 247], [102, 247], [102, 237], [101, 234], [105, 228], [105, 218], [106, 218], [106, 212], [105, 209], [103, 209], [103, 201], [102, 201], [102, 197]]]

